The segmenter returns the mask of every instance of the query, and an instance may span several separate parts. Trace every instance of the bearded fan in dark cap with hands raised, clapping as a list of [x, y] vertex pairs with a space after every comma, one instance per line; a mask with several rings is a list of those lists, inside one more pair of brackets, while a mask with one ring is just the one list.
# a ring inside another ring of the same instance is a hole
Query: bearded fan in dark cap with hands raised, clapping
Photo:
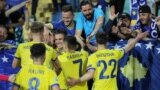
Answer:
[[[118, 18], [117, 25], [114, 25], [114, 20]], [[131, 16], [128, 13], [110, 15], [110, 19], [105, 25], [105, 31], [108, 34], [109, 41], [118, 41], [120, 39], [128, 39], [131, 31]], [[124, 34], [125, 33], [125, 34]]]

